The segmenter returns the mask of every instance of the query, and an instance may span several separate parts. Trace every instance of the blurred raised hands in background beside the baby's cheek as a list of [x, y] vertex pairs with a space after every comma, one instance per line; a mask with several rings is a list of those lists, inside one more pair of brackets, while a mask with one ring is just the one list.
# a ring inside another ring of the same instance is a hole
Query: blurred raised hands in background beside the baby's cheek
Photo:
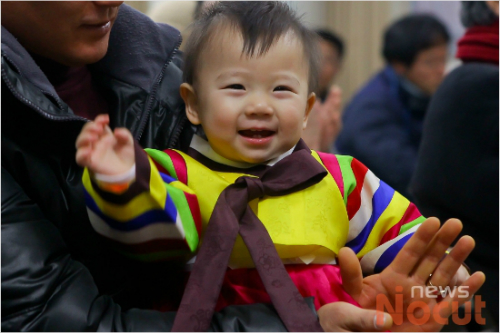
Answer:
[[342, 90], [332, 86], [325, 100], [321, 103], [316, 100], [302, 138], [309, 148], [329, 152], [330, 147], [340, 133]]

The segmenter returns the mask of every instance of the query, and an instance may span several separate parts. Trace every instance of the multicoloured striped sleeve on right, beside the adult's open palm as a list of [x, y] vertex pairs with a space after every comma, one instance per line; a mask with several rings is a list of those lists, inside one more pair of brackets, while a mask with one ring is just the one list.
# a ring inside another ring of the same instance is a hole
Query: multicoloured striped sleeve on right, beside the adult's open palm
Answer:
[[346, 246], [361, 258], [365, 274], [382, 271], [425, 218], [417, 207], [361, 162], [337, 155], [349, 217]]

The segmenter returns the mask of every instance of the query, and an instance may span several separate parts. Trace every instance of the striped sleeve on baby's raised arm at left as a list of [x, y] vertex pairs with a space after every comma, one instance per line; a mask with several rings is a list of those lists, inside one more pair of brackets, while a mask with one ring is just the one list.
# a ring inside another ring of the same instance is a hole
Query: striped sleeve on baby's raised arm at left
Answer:
[[193, 253], [201, 216], [196, 196], [186, 186], [185, 164], [171, 158], [170, 151], [148, 150], [148, 156], [137, 147], [136, 179], [123, 193], [103, 190], [85, 169], [92, 227], [117, 251], [137, 260], [162, 261]]

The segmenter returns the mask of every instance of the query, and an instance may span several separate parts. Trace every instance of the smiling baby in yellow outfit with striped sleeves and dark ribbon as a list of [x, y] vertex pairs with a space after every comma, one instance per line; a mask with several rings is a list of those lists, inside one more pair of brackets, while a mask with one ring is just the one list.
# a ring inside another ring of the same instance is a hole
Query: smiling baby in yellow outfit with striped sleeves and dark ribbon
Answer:
[[[342, 288], [339, 250], [351, 248], [363, 273], [380, 272], [425, 220], [356, 159], [311, 151], [301, 140], [316, 98], [316, 43], [284, 2], [216, 3], [186, 45], [180, 94], [202, 129], [187, 153], [144, 152], [128, 130], [111, 131], [106, 115], [77, 140], [98, 233], [139, 260], [193, 261], [198, 253], [184, 308], [211, 317], [200, 284], [211, 286], [217, 310], [276, 306], [280, 294], [270, 290], [286, 294], [289, 278], [298, 303], [302, 295], [314, 296], [316, 308], [357, 304]], [[262, 225], [265, 236], [256, 231]]]

